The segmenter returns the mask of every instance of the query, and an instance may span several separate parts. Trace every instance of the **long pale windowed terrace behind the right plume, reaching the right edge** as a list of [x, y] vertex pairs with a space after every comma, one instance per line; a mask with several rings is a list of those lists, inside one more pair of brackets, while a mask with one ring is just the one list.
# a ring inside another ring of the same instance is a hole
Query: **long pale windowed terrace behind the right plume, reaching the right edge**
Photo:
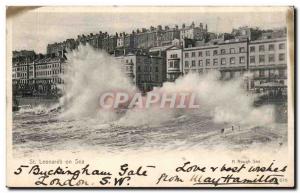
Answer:
[[[218, 70], [221, 79], [228, 80], [241, 77], [247, 72], [251, 74], [245, 81], [248, 90], [259, 92], [263, 87], [274, 87], [284, 93], [287, 87], [286, 37], [262, 37], [254, 41], [230, 39], [217, 44], [183, 48], [182, 58], [176, 57], [176, 60], [182, 63], [182, 70], [179, 69], [183, 74]], [[180, 74], [172, 74], [173, 58], [179, 54], [180, 48], [167, 51], [167, 77], [170, 81], [174, 81]], [[176, 67], [174, 70], [178, 71]]]

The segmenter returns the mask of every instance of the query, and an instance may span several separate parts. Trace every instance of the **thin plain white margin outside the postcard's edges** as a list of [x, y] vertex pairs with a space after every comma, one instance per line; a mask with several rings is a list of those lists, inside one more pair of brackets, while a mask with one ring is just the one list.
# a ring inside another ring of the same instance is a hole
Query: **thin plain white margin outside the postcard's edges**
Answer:
[[[226, 2], [226, 4], [224, 4]], [[0, 157], [1, 157], [1, 164], [0, 164], [0, 192], [8, 192], [9, 190], [5, 187], [5, 153], [6, 153], [6, 146], [5, 146], [5, 130], [6, 130], [6, 83], [5, 83], [5, 76], [6, 76], [6, 36], [5, 36], [5, 10], [6, 6], [9, 5], [233, 5], [233, 6], [245, 6], [245, 5], [294, 5], [296, 8], [299, 9], [300, 7], [300, 1], [299, 0], [285, 0], [285, 1], [280, 1], [280, 0], [272, 0], [272, 1], [265, 1], [265, 0], [252, 0], [252, 1], [241, 1], [241, 0], [226, 0], [226, 1], [221, 1], [221, 0], [209, 0], [209, 1], [202, 1], [202, 2], [196, 2], [193, 0], [149, 0], [149, 1], [140, 1], [140, 0], [126, 0], [126, 1], [121, 1], [121, 0], [109, 0], [105, 2], [97, 1], [97, 0], [30, 0], [30, 1], [24, 1], [24, 0], [2, 0], [0, 1], [0, 42], [1, 43], [1, 52], [0, 52], [0, 58], [1, 58], [1, 63], [0, 63], [0, 123], [1, 126], [1, 134], [0, 134]], [[298, 10], [299, 11], [299, 10]], [[299, 20], [296, 20], [297, 24], [295, 27], [299, 25]], [[299, 31], [297, 30], [297, 36], [299, 36]], [[298, 40], [298, 38], [297, 38]], [[298, 41], [296, 42], [298, 45]], [[296, 53], [297, 54], [297, 53]], [[297, 61], [295, 61], [295, 64], [297, 65]], [[297, 73], [299, 73], [299, 68], [297, 68]], [[297, 81], [297, 76], [295, 81]], [[297, 90], [299, 90], [299, 84], [297, 85]], [[297, 106], [298, 107], [298, 106]], [[298, 108], [297, 108], [298, 109]], [[295, 109], [296, 110], [296, 109]], [[299, 116], [299, 114], [298, 114]], [[298, 119], [297, 116], [297, 119]], [[296, 128], [297, 129], [297, 128]], [[297, 139], [299, 138], [299, 131], [297, 131]], [[297, 143], [296, 143], [297, 144]], [[297, 155], [299, 155], [299, 148], [297, 148]], [[298, 167], [299, 168], [299, 165]], [[298, 173], [298, 171], [297, 171]], [[299, 185], [299, 176], [297, 177], [298, 181], [296, 184]], [[36, 190], [21, 190], [18, 192], [34, 192]], [[60, 192], [61, 190], [53, 190], [53, 192]], [[75, 190], [66, 190], [68, 192], [75, 192]], [[88, 192], [89, 190], [83, 190], [80, 192]], [[103, 191], [103, 190], [102, 190]], [[138, 190], [137, 192], [142, 192], [143, 190]], [[153, 190], [155, 192], [162, 192], [163, 190], [157, 191]], [[176, 190], [173, 190], [176, 191]], [[200, 190], [201, 192], [208, 192], [209, 190]], [[253, 190], [243, 190], [243, 192], [250, 192]], [[264, 190], [259, 190], [255, 192], [263, 192]], [[288, 190], [280, 190], [280, 191], [288, 191]]]

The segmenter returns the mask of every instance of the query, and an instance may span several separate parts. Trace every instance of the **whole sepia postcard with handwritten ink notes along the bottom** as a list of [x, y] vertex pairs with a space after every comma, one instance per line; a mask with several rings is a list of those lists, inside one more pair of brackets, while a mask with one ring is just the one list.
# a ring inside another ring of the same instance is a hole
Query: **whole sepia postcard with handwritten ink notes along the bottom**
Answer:
[[6, 22], [8, 187], [294, 187], [294, 7]]

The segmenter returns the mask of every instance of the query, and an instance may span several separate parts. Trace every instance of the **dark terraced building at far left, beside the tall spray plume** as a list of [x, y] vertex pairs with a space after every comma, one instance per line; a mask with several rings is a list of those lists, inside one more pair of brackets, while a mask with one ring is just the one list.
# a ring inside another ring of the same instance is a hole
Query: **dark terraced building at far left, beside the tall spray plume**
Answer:
[[56, 95], [63, 83], [65, 57], [62, 54], [13, 52], [13, 95]]

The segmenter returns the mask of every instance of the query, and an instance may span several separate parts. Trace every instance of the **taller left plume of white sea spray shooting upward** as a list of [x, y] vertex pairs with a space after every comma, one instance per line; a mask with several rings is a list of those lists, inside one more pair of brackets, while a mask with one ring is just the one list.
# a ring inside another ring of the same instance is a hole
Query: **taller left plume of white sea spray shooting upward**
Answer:
[[115, 119], [114, 112], [102, 112], [98, 99], [106, 90], [127, 90], [135, 87], [122, 72], [122, 64], [105, 51], [95, 50], [90, 46], [79, 46], [67, 54], [65, 65], [64, 95], [61, 104], [64, 108], [62, 117], [98, 117], [99, 120]]

